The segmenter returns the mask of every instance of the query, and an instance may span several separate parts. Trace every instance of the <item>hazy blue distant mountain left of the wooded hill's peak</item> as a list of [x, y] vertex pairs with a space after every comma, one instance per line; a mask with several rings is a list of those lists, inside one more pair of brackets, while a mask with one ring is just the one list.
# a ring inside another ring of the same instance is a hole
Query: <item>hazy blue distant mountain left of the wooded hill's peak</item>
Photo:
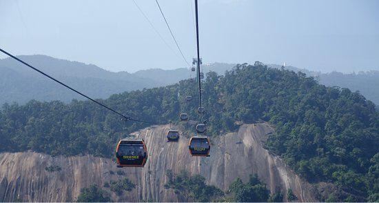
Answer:
[[[92, 64], [55, 59], [45, 55], [19, 56], [19, 58], [72, 88], [99, 99], [130, 90], [166, 86], [195, 76], [186, 68], [149, 69], [131, 74], [110, 72]], [[232, 65], [216, 63], [204, 67], [205, 71], [223, 72], [231, 69]], [[30, 99], [63, 102], [85, 99], [11, 58], [0, 59], [0, 94], [2, 95], [0, 104], [14, 101], [25, 104]]]

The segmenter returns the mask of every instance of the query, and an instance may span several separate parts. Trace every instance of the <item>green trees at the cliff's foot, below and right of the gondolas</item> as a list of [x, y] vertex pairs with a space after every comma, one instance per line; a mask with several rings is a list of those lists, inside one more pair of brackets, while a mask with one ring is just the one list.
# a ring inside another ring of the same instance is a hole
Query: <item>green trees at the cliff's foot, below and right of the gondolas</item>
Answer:
[[[179, 202], [283, 202], [283, 193], [270, 195], [266, 184], [257, 175], [250, 175], [247, 183], [237, 178], [229, 185], [226, 194], [215, 186], [205, 184], [205, 177], [189, 175], [187, 171], [178, 174], [168, 170], [165, 189], [172, 189]], [[290, 190], [289, 190], [290, 191]], [[291, 200], [296, 200], [292, 193]]]

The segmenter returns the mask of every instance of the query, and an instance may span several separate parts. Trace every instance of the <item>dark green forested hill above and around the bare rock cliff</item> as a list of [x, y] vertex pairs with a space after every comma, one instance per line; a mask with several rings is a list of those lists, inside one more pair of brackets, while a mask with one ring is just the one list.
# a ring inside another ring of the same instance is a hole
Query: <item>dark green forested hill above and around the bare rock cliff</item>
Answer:
[[[209, 72], [203, 89], [208, 135], [236, 131], [237, 123], [269, 122], [276, 132], [267, 148], [296, 173], [311, 182], [336, 184], [351, 194], [349, 200], [378, 200], [379, 113], [360, 93], [259, 63], [238, 65], [225, 76]], [[184, 80], [112, 95], [103, 102], [131, 117], [165, 124], [177, 121], [181, 112], [197, 119], [196, 93], [195, 82]], [[186, 103], [186, 95], [193, 102]], [[6, 105], [0, 124], [2, 151], [110, 157], [116, 140], [125, 135], [119, 117], [89, 101]], [[130, 123], [127, 132], [144, 126]]]

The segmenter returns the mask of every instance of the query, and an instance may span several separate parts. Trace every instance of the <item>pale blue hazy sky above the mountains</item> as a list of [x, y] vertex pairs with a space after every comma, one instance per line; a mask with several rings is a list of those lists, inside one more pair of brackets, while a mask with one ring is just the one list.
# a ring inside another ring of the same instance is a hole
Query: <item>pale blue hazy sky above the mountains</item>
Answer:
[[[283, 64], [321, 72], [379, 70], [379, 1], [198, 0], [203, 64]], [[0, 0], [0, 48], [111, 71], [188, 67], [155, 0]], [[191, 64], [193, 0], [158, 0]], [[6, 57], [0, 54], [0, 58]]]

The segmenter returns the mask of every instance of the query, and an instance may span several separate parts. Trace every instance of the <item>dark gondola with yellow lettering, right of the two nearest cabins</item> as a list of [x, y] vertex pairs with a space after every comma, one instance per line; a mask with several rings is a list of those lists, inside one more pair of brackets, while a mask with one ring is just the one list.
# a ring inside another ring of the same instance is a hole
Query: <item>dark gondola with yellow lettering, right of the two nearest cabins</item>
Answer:
[[209, 157], [209, 151], [211, 150], [209, 138], [203, 136], [191, 137], [188, 148], [192, 156]]

